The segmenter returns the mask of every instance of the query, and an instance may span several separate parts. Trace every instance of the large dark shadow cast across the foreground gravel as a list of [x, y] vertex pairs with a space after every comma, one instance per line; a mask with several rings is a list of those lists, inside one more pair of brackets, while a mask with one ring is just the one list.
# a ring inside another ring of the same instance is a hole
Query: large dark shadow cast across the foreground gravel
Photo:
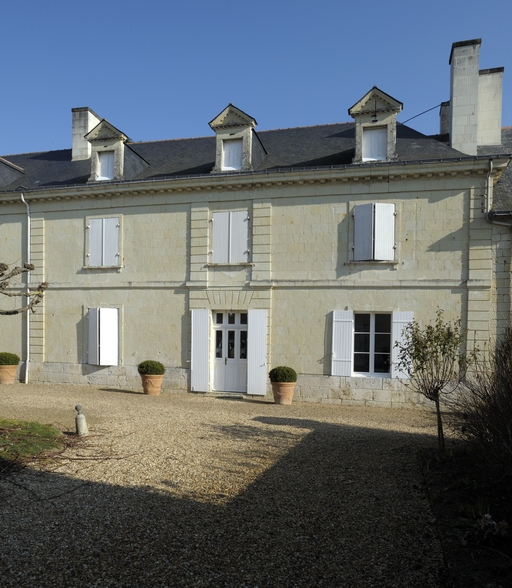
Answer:
[[31, 474], [43, 497], [4, 481], [2, 587], [24, 585], [20, 569], [40, 588], [442, 586], [415, 458], [434, 438], [286, 417], [210, 434], [254, 439], [237, 456], [249, 464], [289, 441], [290, 427], [305, 429], [302, 440], [222, 505], [44, 472]]

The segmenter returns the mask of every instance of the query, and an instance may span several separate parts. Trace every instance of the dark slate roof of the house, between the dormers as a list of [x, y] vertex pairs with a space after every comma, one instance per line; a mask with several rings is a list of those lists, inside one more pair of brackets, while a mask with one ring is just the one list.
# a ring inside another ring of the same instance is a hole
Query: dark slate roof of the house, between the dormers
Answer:
[[[353, 122], [261, 131], [258, 137], [267, 155], [256, 172], [352, 165], [355, 147]], [[215, 136], [127, 145], [149, 163], [135, 180], [209, 176], [215, 163]], [[499, 152], [512, 152], [512, 144], [510, 149], [504, 147], [500, 147]], [[428, 137], [401, 124], [397, 124], [397, 156], [402, 162], [467, 157], [437, 138]], [[4, 158], [23, 168], [25, 175], [9, 186], [0, 188], [0, 192], [14, 190], [19, 186], [31, 189], [84, 185], [90, 175], [90, 161], [71, 161], [71, 149], [8, 155]]]

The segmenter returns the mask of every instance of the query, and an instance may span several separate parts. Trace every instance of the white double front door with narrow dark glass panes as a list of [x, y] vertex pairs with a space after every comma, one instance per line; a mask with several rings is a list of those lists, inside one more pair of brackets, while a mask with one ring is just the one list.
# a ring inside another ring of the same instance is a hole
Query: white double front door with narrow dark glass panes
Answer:
[[247, 392], [247, 312], [213, 312], [213, 389]]

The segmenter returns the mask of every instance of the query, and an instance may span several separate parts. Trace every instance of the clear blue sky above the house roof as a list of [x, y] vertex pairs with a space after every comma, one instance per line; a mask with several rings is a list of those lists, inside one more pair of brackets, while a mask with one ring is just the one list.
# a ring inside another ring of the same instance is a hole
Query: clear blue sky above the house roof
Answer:
[[[0, 154], [71, 147], [71, 108], [134, 141], [210, 135], [229, 102], [257, 130], [344, 122], [373, 85], [405, 121], [449, 99], [454, 41], [505, 67], [510, 0], [17, 0], [2, 5]], [[438, 110], [410, 126], [436, 133]]]

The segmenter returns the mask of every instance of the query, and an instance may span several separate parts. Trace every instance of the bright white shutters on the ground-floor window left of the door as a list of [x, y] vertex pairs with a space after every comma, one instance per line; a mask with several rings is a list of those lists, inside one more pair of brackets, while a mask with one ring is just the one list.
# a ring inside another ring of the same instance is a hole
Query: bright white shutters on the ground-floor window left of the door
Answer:
[[119, 365], [119, 308], [89, 308], [87, 363]]

